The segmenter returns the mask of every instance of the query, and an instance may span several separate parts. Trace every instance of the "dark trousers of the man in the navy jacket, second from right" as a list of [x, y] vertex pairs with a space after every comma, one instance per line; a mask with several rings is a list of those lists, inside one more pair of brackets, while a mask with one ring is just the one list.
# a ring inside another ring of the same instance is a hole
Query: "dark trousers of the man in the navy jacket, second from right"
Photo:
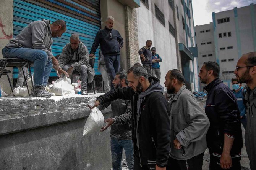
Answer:
[[[232, 168], [228, 170], [241, 170], [240, 160], [241, 160], [241, 157], [232, 158]], [[220, 157], [213, 156], [212, 154], [210, 154], [209, 170], [223, 170], [220, 167]]]

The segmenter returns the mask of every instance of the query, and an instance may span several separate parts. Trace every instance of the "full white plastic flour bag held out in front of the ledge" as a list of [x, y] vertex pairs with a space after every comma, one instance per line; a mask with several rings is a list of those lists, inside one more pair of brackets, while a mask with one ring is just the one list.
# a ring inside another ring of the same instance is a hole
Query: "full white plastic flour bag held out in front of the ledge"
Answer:
[[[88, 105], [90, 107], [93, 107], [95, 101], [96, 101], [96, 98], [93, 97], [92, 99], [89, 100]], [[100, 128], [103, 126], [103, 124], [104, 124], [103, 114], [97, 107], [94, 107], [85, 122], [83, 136], [95, 131], [99, 131]]]

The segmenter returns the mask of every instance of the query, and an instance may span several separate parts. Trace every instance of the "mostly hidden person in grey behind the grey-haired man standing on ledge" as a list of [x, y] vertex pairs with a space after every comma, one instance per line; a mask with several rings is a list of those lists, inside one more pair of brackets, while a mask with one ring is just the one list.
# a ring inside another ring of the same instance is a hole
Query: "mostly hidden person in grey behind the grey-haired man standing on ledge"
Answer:
[[103, 80], [104, 83], [104, 89], [102, 89], [102, 91], [104, 93], [110, 91], [110, 87], [109, 87], [109, 75], [107, 73], [107, 67], [106, 64], [104, 62], [104, 56], [101, 52], [101, 50], [99, 50], [99, 62], [98, 62], [98, 70], [101, 73], [101, 78]]

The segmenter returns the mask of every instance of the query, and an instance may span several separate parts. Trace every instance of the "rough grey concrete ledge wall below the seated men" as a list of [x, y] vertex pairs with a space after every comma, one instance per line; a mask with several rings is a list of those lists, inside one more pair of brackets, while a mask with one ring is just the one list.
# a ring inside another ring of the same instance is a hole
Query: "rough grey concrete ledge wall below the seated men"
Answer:
[[110, 129], [83, 137], [91, 97], [0, 99], [0, 169], [110, 169]]

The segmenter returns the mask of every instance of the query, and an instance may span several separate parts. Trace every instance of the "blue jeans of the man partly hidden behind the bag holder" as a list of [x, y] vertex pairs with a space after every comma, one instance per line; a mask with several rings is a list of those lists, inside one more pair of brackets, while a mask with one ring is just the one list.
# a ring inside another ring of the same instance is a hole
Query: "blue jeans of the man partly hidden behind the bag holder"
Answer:
[[125, 157], [129, 170], [133, 170], [133, 142], [132, 140], [121, 140], [111, 137], [111, 156], [113, 170], [122, 170], [121, 160], [123, 149], [125, 149]]

